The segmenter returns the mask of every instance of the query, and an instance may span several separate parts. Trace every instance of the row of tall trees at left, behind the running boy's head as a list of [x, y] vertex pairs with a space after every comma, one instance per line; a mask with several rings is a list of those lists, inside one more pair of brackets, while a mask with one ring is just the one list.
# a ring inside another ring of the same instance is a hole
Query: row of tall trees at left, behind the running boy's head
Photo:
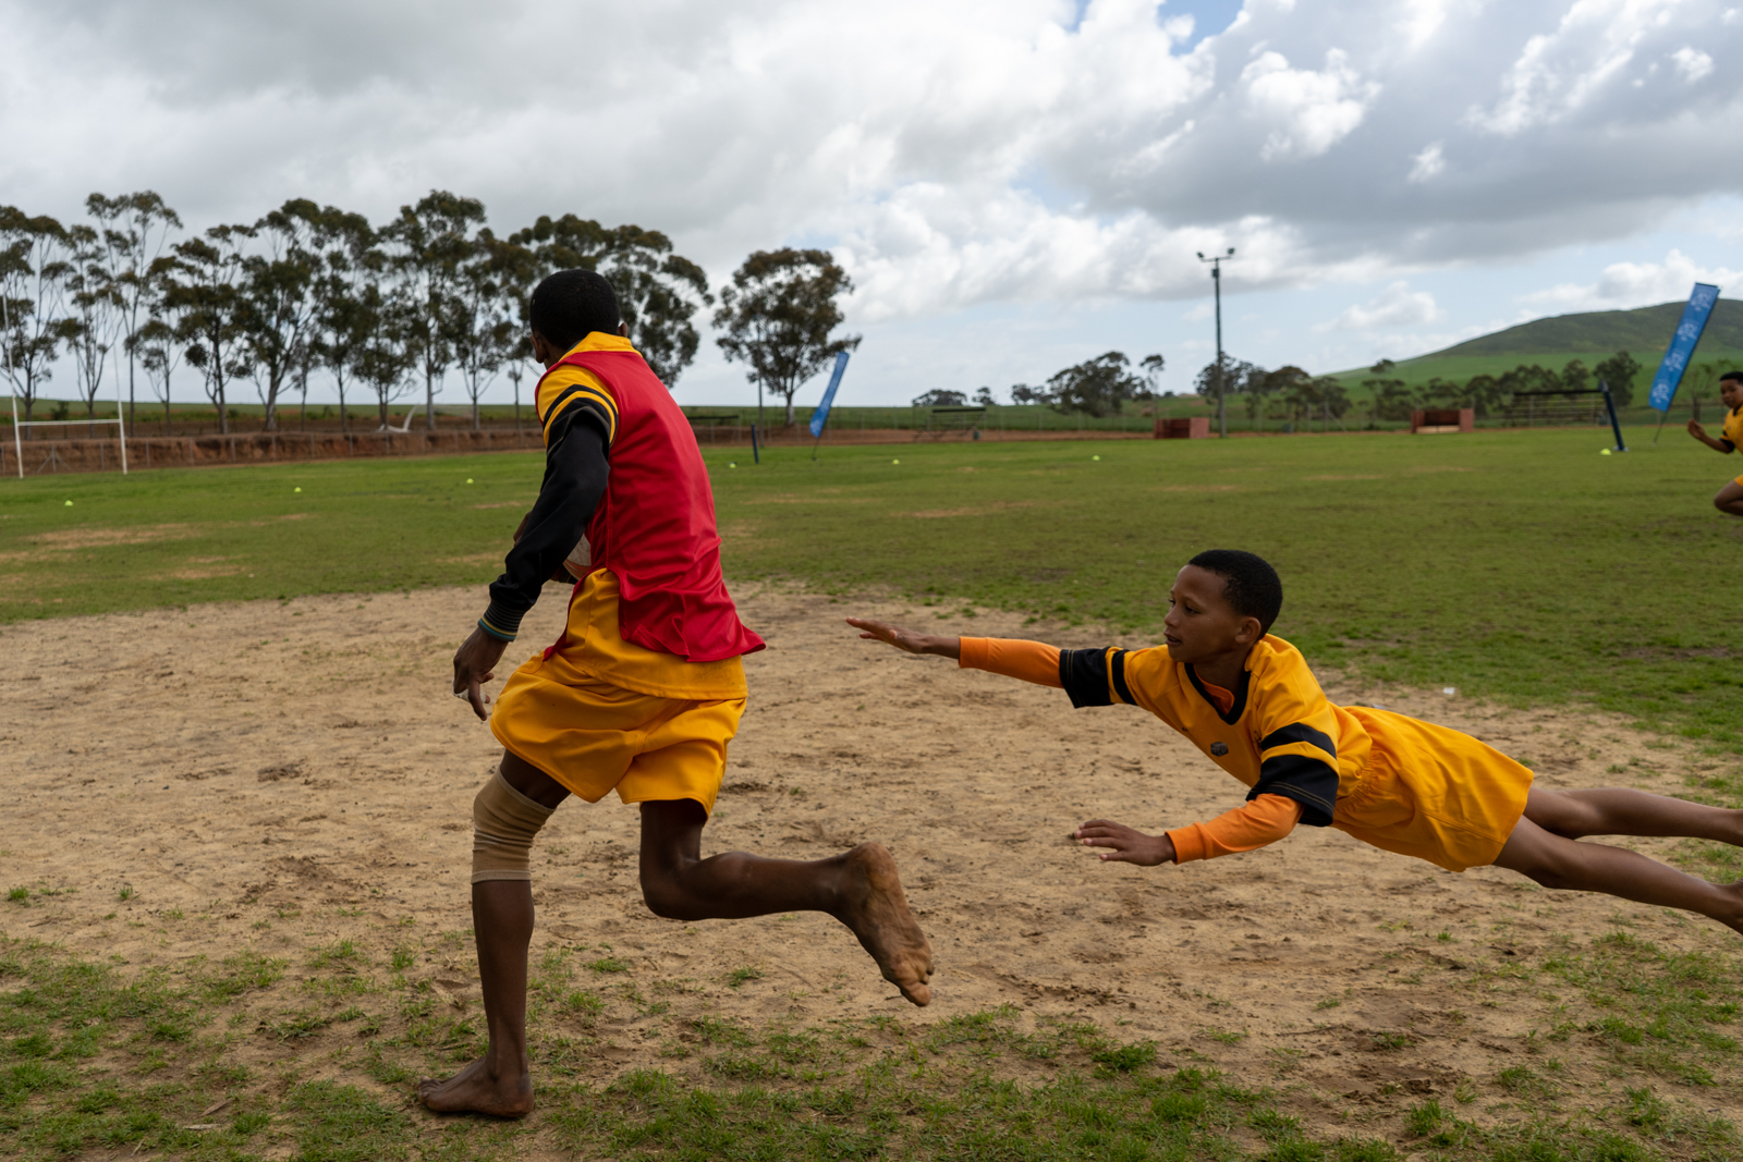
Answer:
[[[457, 373], [471, 401], [505, 375], [519, 416], [533, 368], [532, 286], [553, 270], [598, 270], [617, 291], [631, 338], [671, 387], [695, 359], [695, 314], [715, 303], [708, 275], [640, 226], [563, 214], [497, 237], [478, 199], [434, 190], [387, 223], [293, 199], [248, 225], [173, 240], [181, 218], [153, 192], [85, 200], [89, 223], [63, 225], [0, 206], [0, 354], [24, 418], [56, 361], [73, 362], [85, 415], [110, 375], [132, 422], [138, 380], [164, 404], [183, 368], [199, 375], [228, 430], [230, 395], [251, 383], [265, 427], [291, 392], [307, 402], [324, 371], [347, 423], [347, 394], [389, 404], [422, 387], [425, 425]], [[729, 361], [758, 387], [793, 392], [859, 336], [831, 338], [837, 296], [852, 289], [826, 251], [758, 251], [734, 274], [715, 314]]]

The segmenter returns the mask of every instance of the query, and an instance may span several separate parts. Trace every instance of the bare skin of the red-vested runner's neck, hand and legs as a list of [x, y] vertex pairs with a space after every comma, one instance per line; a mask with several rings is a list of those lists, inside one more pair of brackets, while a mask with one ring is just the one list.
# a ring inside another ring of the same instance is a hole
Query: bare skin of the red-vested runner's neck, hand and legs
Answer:
[[[624, 333], [621, 329], [621, 333]], [[546, 366], [563, 357], [533, 333]], [[453, 695], [488, 721], [485, 683], [495, 678], [507, 643], [474, 629], [453, 655]], [[504, 751], [502, 777], [542, 807], [556, 808], [568, 789], [526, 760]], [[872, 953], [884, 979], [915, 1005], [933, 995], [933, 951], [908, 911], [896, 861], [882, 843], [810, 862], [727, 852], [702, 859], [708, 812], [695, 800], [641, 803], [641, 897], [669, 920], [736, 920], [821, 911], [847, 925]], [[525, 880], [472, 885], [472, 930], [485, 996], [490, 1047], [446, 1080], [425, 1078], [418, 1098], [439, 1113], [521, 1118], [533, 1110], [526, 1061], [526, 949], [533, 936], [533, 892]]]

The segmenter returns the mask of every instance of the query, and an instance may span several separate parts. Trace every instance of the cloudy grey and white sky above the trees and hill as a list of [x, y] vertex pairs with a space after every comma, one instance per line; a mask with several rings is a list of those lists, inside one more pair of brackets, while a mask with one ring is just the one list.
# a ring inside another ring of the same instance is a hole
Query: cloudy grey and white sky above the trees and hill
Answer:
[[[1743, 0], [0, 0], [0, 202], [150, 188], [204, 228], [446, 188], [498, 232], [664, 230], [716, 284], [823, 246], [866, 336], [842, 402], [1109, 348], [1185, 388], [1194, 253], [1229, 246], [1227, 348], [1312, 371], [1743, 296]], [[753, 392], [704, 334], [678, 397]]]

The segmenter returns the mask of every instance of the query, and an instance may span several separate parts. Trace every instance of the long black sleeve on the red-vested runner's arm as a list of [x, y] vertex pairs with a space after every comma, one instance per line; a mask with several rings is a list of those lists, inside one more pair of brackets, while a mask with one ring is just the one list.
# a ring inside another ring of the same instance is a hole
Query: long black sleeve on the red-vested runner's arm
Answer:
[[526, 517], [526, 531], [509, 549], [502, 577], [490, 585], [490, 608], [478, 622], [486, 634], [514, 641], [546, 578], [587, 533], [608, 476], [600, 420], [589, 409], [570, 408], [551, 429], [546, 476]]

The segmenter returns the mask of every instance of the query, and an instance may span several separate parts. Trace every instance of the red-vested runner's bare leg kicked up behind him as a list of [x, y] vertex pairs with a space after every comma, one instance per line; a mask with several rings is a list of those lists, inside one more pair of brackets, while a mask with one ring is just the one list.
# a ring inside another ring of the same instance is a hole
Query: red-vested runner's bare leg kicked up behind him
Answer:
[[671, 920], [737, 920], [824, 911], [859, 937], [884, 979], [917, 1005], [933, 1000], [933, 949], [908, 911], [882, 843], [802, 862], [727, 852], [701, 859], [708, 815], [692, 800], [641, 805], [641, 895]]

